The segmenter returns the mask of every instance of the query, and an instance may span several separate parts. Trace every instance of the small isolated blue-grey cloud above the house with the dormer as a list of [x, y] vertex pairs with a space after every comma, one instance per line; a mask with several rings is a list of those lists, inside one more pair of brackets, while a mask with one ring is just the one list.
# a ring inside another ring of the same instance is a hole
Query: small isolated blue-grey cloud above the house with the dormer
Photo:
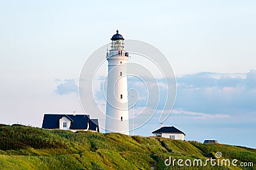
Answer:
[[[60, 79], [56, 79], [55, 81], [60, 82]], [[64, 80], [63, 83], [60, 83], [54, 90], [56, 94], [64, 95], [70, 93], [78, 94], [78, 87], [76, 85], [76, 81], [74, 79]]]

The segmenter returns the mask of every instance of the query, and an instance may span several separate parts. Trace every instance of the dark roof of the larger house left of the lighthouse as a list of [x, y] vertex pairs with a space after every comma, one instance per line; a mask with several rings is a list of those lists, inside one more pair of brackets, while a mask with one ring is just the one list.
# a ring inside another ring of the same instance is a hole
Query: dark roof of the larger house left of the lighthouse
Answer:
[[70, 129], [87, 129], [90, 120], [89, 115], [45, 114], [42, 128], [60, 129], [59, 120], [62, 117], [67, 117], [71, 121]]

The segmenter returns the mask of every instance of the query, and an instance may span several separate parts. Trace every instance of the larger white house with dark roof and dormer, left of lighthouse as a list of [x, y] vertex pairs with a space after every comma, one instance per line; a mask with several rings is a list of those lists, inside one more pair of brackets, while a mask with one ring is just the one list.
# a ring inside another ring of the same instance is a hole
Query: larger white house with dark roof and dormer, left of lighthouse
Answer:
[[89, 115], [44, 114], [42, 128], [99, 132], [99, 123], [98, 119], [90, 119]]

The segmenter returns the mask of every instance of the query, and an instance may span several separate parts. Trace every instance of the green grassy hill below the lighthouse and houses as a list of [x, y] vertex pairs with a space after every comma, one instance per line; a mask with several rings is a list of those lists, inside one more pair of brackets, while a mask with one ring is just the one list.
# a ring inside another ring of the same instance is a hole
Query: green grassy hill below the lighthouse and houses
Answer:
[[[221, 159], [239, 160], [237, 165], [253, 162], [253, 167], [164, 165], [169, 157], [205, 161], [215, 159], [216, 152], [222, 153]], [[256, 150], [242, 146], [0, 125], [0, 169], [256, 169], [255, 165]]]

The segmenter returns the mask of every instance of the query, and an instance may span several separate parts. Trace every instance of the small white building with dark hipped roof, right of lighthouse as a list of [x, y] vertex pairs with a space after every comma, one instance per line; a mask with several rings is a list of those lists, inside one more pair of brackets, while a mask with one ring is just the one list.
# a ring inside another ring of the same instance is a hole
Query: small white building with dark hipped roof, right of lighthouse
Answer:
[[[161, 125], [162, 126], [162, 125]], [[170, 138], [170, 139], [178, 139], [184, 141], [186, 134], [184, 132], [180, 131], [176, 127], [170, 126], [170, 127], [161, 127], [160, 129], [157, 129], [156, 131], [152, 132], [154, 136], [159, 136], [163, 138]]]

